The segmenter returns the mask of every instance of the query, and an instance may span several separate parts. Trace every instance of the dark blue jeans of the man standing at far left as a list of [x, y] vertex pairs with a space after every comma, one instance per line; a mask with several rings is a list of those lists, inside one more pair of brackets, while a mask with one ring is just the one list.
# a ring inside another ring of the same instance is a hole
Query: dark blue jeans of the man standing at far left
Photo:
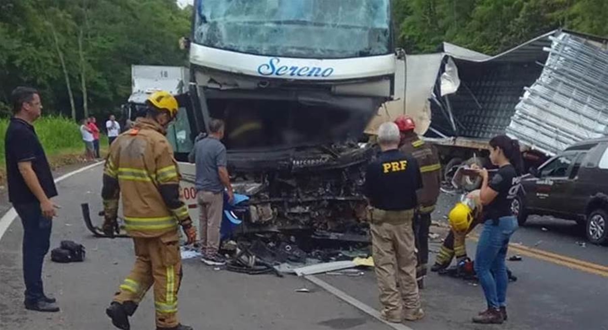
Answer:
[[23, 278], [26, 304], [44, 297], [42, 265], [49, 252], [52, 220], [44, 218], [40, 203], [14, 204], [23, 224]]

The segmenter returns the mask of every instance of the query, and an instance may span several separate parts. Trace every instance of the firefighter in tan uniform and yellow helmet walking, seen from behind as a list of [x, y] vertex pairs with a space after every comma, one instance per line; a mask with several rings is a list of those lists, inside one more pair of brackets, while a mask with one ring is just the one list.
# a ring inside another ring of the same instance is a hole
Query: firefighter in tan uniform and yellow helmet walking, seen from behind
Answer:
[[114, 326], [129, 330], [128, 317], [154, 286], [157, 329], [192, 330], [177, 316], [182, 279], [178, 229], [182, 227], [188, 244], [196, 241], [196, 230], [179, 197], [180, 174], [165, 138], [178, 102], [167, 92], [156, 92], [146, 103], [145, 118], [138, 118], [112, 143], [103, 172], [103, 231], [117, 232], [122, 194], [125, 229], [133, 237], [137, 257], [106, 314]]

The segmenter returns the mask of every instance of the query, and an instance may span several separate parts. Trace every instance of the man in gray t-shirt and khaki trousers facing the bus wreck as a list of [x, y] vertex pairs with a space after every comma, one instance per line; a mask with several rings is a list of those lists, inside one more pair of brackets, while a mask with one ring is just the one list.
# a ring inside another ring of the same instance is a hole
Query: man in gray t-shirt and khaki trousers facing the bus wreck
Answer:
[[224, 209], [224, 189], [232, 203], [234, 194], [226, 169], [226, 147], [220, 142], [224, 138], [224, 122], [211, 120], [209, 136], [196, 142], [191, 160], [196, 163], [196, 198], [200, 209], [200, 231], [202, 258], [210, 266], [220, 266], [226, 260], [218, 254], [219, 227]]

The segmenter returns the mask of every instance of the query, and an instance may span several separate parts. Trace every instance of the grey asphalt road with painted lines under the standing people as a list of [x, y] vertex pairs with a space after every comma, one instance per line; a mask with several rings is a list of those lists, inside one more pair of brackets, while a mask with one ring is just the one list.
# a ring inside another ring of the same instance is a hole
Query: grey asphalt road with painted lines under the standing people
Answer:
[[[104, 309], [133, 263], [133, 244], [128, 239], [93, 238], [80, 215], [80, 203], [100, 209], [101, 167], [74, 175], [58, 184], [63, 206], [54, 220], [52, 247], [61, 240], [86, 246], [86, 261], [45, 265], [45, 285], [58, 298], [62, 311], [41, 314], [22, 308], [21, 225], [13, 222], [0, 240], [0, 329], [112, 329]], [[455, 197], [444, 195], [434, 218], [441, 220]], [[548, 231], [542, 231], [546, 227]], [[608, 266], [607, 248], [576, 241], [584, 238], [575, 226], [556, 220], [531, 218], [530, 226], [513, 238], [525, 246]], [[542, 241], [534, 247], [534, 244]], [[469, 254], [474, 255], [470, 241]], [[437, 250], [437, 244], [433, 244]], [[434, 259], [434, 256], [431, 257]], [[485, 306], [479, 286], [463, 280], [431, 274], [423, 290], [427, 317], [407, 323], [425, 329], [608, 329], [605, 301], [607, 278], [584, 269], [524, 256], [508, 266], [519, 280], [510, 286], [510, 319], [502, 326], [476, 326], [472, 315]], [[184, 261], [184, 283], [179, 294], [180, 315], [195, 329], [391, 329], [370, 315], [330, 294], [304, 278], [273, 275], [249, 276], [215, 271], [197, 260]], [[608, 274], [608, 272], [607, 272]], [[378, 292], [372, 271], [362, 277], [320, 275], [320, 279], [365, 305], [378, 308]], [[308, 288], [310, 293], [295, 289]], [[132, 319], [134, 330], [153, 329], [152, 292]]]

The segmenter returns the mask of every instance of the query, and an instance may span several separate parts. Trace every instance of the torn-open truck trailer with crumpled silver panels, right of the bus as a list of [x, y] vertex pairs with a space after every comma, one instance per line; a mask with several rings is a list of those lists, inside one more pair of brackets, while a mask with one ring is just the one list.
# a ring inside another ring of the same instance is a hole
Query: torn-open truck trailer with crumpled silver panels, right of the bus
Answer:
[[[462, 166], [491, 166], [488, 141], [500, 134], [520, 141], [528, 170], [574, 143], [606, 135], [607, 69], [607, 39], [568, 30], [496, 56], [444, 42], [440, 53], [407, 55], [397, 66], [401, 95], [367, 131], [412, 116], [417, 133], [438, 146], [448, 182]], [[481, 182], [460, 176], [457, 184], [472, 190]]]

